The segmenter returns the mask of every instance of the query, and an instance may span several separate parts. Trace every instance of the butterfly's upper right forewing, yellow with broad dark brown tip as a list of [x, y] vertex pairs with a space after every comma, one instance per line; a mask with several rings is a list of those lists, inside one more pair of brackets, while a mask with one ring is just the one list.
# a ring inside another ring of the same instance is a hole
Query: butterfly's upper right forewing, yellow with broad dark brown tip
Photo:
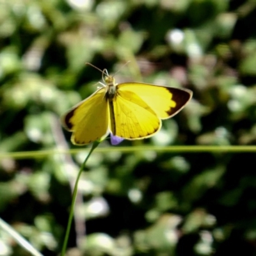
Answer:
[[190, 90], [145, 83], [118, 84], [116, 86], [116, 92], [135, 93], [161, 119], [170, 118], [179, 113], [193, 95]]

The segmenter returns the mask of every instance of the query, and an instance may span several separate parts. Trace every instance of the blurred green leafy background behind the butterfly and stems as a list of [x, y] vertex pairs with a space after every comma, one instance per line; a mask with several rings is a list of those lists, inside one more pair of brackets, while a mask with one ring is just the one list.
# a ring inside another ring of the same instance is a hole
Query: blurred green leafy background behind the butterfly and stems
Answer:
[[[255, 153], [168, 152], [255, 144], [255, 24], [255, 0], [1, 1], [0, 156], [32, 151], [0, 159], [1, 218], [45, 256], [60, 253], [88, 151], [55, 154], [75, 148], [59, 117], [96, 90], [90, 62], [119, 70], [118, 83], [194, 95], [153, 138], [122, 142], [129, 152], [109, 140], [93, 152], [68, 255], [256, 255]], [[0, 229], [0, 255], [29, 253]]]

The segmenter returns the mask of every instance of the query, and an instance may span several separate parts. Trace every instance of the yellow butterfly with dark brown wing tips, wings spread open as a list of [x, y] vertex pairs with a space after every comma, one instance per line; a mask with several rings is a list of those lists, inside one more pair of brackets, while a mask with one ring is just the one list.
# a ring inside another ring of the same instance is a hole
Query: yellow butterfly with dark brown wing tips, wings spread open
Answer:
[[193, 95], [190, 90], [156, 84], [116, 84], [106, 69], [102, 80], [101, 88], [61, 118], [75, 145], [99, 140], [109, 131], [125, 140], [151, 137], [161, 129], [161, 119], [176, 115]]

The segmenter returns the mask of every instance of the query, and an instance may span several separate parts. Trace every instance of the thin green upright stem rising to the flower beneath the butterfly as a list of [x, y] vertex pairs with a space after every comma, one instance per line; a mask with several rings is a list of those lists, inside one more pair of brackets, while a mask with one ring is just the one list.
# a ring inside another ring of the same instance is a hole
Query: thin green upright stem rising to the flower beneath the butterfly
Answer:
[[74, 206], [75, 206], [75, 202], [76, 202], [76, 195], [77, 195], [77, 189], [78, 189], [78, 182], [79, 182], [79, 178], [84, 170], [84, 166], [88, 160], [88, 158], [90, 157], [90, 155], [92, 154], [93, 150], [95, 150], [95, 148], [98, 147], [100, 141], [94, 141], [92, 148], [90, 149], [89, 154], [86, 156], [86, 158], [83, 161], [83, 164], [81, 164], [79, 173], [77, 175], [76, 178], [76, 183], [74, 186], [74, 191], [73, 191], [73, 195], [72, 195], [72, 203], [71, 203], [71, 208], [70, 208], [70, 214], [68, 217], [68, 225], [67, 225], [67, 230], [66, 230], [66, 234], [65, 234], [65, 239], [63, 242], [63, 246], [62, 246], [62, 250], [61, 250], [61, 256], [65, 256], [66, 250], [67, 250], [67, 243], [68, 243], [68, 237], [70, 234], [70, 228], [71, 228], [71, 224], [72, 224], [72, 220], [73, 220], [73, 216], [74, 216]]

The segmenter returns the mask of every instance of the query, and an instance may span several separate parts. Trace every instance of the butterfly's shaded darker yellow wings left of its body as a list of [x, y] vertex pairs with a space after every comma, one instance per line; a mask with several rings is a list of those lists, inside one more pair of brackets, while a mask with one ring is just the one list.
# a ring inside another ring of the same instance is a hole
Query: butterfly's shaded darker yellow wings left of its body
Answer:
[[105, 95], [106, 88], [100, 88], [63, 115], [61, 121], [72, 132], [72, 143], [85, 145], [108, 132], [109, 110]]

